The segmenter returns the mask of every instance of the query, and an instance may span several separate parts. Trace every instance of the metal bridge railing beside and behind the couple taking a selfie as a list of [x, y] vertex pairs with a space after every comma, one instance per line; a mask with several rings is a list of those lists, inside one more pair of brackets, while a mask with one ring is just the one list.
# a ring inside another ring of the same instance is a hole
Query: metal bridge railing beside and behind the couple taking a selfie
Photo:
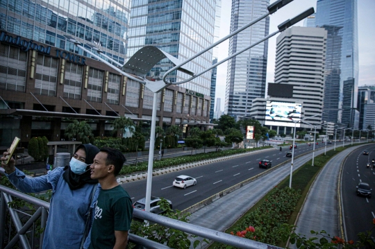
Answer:
[[[12, 197], [19, 198], [24, 200], [28, 203], [35, 205], [38, 207], [36, 212], [31, 215], [31, 218], [22, 225], [22, 222], [19, 218], [19, 212], [13, 209], [9, 203], [12, 201]], [[31, 241], [26, 237], [27, 232], [35, 232], [33, 224], [41, 218], [41, 227], [45, 227], [47, 223], [47, 215], [49, 210], [49, 203], [45, 202], [44, 200], [40, 200], [33, 196], [28, 196], [27, 194], [21, 193], [14, 189], [10, 189], [8, 187], [0, 185], [0, 249], [8, 249], [12, 248], [15, 243], [19, 242], [19, 246], [22, 246], [23, 249], [31, 249], [33, 248], [31, 245], [35, 238], [32, 238]], [[8, 210], [10, 214], [10, 222], [13, 223], [16, 229], [15, 236], [13, 238], [5, 238], [6, 235], [6, 211]], [[140, 218], [142, 220], [151, 221], [153, 223], [158, 223], [159, 225], [163, 225], [165, 227], [171, 227], [177, 230], [181, 230], [183, 232], [187, 232], [188, 234], [194, 234], [202, 238], [209, 239], [211, 241], [217, 241], [219, 243], [224, 243], [228, 246], [234, 246], [235, 248], [252, 248], [252, 249], [260, 249], [260, 248], [278, 248], [276, 246], [268, 245], [266, 243], [260, 243], [258, 241], [252, 241], [250, 239], [244, 239], [241, 237], [236, 237], [231, 234], [226, 234], [224, 232], [218, 232], [212, 229], [208, 229], [206, 227], [201, 227], [199, 225], [193, 225], [190, 223], [185, 223], [183, 221], [174, 220], [172, 218], [167, 218], [165, 216], [160, 216], [158, 214], [153, 214], [150, 212], [144, 212], [139, 209], [134, 209], [133, 211], [133, 218]], [[42, 248], [43, 243], [43, 232], [40, 234], [40, 248]], [[6, 240], [7, 239], [7, 240]], [[4, 245], [5, 241], [9, 241], [7, 245]], [[144, 248], [169, 248], [163, 244], [157, 243], [155, 241], [151, 241], [149, 239], [145, 239], [143, 237], [139, 237], [135, 234], [129, 233], [129, 241], [135, 243], [140, 246], [144, 246]]]

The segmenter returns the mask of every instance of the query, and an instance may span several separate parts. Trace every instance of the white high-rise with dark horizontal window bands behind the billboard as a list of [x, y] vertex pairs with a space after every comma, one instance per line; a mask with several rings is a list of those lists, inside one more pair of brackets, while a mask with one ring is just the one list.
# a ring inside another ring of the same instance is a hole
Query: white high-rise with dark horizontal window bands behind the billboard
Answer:
[[[293, 101], [303, 102], [303, 119], [323, 112], [326, 39], [324, 28], [308, 27], [288, 28], [276, 38], [275, 83], [293, 86]], [[321, 120], [307, 122], [319, 125]]]

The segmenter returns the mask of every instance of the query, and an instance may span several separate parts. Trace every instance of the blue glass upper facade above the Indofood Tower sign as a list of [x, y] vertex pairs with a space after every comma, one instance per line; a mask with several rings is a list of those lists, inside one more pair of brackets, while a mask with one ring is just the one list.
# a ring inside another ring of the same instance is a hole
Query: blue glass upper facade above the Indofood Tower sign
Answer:
[[63, 36], [70, 35], [124, 63], [130, 1], [0, 0], [0, 29], [90, 57]]

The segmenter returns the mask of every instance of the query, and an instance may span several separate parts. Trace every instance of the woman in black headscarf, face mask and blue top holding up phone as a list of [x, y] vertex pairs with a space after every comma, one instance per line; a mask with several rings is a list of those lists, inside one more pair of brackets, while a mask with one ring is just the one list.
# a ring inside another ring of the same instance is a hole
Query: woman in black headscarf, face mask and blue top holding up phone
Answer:
[[37, 193], [52, 189], [47, 226], [44, 231], [43, 248], [83, 247], [91, 226], [94, 203], [99, 195], [97, 180], [90, 178], [90, 164], [99, 148], [91, 144], [78, 146], [69, 166], [57, 167], [47, 175], [28, 178], [15, 168], [15, 160], [4, 164], [7, 152], [1, 157], [6, 176], [20, 191]]

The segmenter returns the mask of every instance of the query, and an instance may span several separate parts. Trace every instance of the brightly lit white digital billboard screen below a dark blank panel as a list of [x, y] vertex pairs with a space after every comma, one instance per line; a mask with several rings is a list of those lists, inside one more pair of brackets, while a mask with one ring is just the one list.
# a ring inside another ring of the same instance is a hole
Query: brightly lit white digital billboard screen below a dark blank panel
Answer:
[[[301, 119], [301, 110], [300, 103], [267, 101], [265, 125], [294, 127], [293, 120]], [[296, 127], [300, 127], [300, 123]]]

